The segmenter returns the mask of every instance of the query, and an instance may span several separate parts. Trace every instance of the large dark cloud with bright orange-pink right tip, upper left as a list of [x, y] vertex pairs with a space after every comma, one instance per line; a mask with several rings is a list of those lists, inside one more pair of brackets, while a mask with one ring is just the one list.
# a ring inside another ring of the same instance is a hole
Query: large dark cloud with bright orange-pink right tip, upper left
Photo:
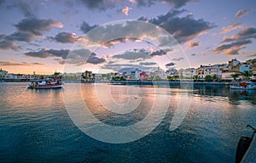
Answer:
[[36, 36], [42, 36], [42, 32], [49, 31], [52, 27], [62, 28], [61, 22], [56, 20], [40, 20], [37, 18], [29, 18], [21, 20], [15, 27], [19, 31], [29, 31]]

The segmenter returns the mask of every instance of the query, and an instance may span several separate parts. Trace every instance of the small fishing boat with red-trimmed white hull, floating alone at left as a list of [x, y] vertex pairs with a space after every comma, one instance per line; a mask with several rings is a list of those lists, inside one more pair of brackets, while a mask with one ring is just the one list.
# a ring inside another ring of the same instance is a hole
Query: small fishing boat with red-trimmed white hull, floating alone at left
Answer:
[[35, 88], [35, 89], [49, 89], [49, 88], [61, 88], [63, 84], [60, 80], [56, 81], [32, 81], [27, 84], [27, 88]]

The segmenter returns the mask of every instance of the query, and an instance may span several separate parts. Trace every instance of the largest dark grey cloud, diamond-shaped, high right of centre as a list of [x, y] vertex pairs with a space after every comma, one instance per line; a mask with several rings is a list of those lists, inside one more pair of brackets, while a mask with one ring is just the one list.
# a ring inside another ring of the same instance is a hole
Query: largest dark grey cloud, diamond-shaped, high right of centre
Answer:
[[[167, 14], [160, 15], [158, 18], [148, 21], [168, 31], [178, 42], [187, 42], [216, 26], [202, 19], [195, 20], [191, 15], [177, 17], [177, 14], [181, 14], [183, 11], [172, 10]], [[139, 18], [138, 20], [147, 19]]]

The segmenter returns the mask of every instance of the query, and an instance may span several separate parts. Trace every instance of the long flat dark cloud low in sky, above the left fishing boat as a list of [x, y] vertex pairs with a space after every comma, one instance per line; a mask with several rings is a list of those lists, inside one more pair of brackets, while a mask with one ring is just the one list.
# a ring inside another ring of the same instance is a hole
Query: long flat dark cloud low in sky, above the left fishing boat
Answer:
[[61, 50], [49, 49], [48, 50], [48, 49], [42, 48], [38, 52], [27, 52], [24, 54], [26, 56], [43, 58], [43, 59], [48, 57], [61, 57], [62, 59], [66, 59], [68, 53], [69, 53], [68, 49], [61, 49]]

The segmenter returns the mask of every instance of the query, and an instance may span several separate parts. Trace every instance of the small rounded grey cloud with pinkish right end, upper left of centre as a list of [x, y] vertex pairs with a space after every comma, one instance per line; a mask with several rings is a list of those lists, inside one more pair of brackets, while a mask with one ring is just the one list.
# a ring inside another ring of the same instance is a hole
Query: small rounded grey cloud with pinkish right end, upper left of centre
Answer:
[[77, 42], [79, 37], [75, 33], [61, 32], [54, 37], [55, 41], [62, 43]]

